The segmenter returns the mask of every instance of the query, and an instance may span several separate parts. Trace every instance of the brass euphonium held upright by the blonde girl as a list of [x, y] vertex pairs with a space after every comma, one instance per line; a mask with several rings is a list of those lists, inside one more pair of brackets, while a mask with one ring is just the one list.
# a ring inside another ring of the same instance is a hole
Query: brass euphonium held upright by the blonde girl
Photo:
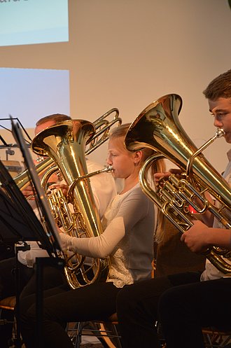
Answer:
[[[31, 144], [35, 153], [52, 158], [69, 186], [69, 202], [73, 204], [74, 211], [66, 232], [75, 237], [97, 237], [102, 233], [102, 224], [94, 204], [85, 160], [86, 143], [94, 134], [95, 128], [92, 123], [86, 120], [66, 120], [38, 133]], [[62, 200], [62, 197], [60, 199]], [[66, 216], [66, 211], [62, 209], [63, 206], [60, 207], [60, 214], [64, 216], [64, 220], [68, 220], [69, 216]], [[65, 227], [64, 224], [64, 229]], [[94, 259], [94, 277], [89, 278], [83, 264], [84, 257], [77, 254], [74, 261], [73, 257], [73, 254], [66, 255], [64, 268], [71, 288], [106, 280], [109, 258]]]

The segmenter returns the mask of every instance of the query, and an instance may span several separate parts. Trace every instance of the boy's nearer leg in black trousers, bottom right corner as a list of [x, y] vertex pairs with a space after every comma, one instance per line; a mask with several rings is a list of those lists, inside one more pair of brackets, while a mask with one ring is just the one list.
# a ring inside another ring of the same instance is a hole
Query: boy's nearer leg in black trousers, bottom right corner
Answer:
[[[160, 298], [160, 321], [168, 348], [204, 348], [202, 328], [231, 329], [231, 279], [170, 288]], [[146, 346], [148, 347], [148, 346]]]

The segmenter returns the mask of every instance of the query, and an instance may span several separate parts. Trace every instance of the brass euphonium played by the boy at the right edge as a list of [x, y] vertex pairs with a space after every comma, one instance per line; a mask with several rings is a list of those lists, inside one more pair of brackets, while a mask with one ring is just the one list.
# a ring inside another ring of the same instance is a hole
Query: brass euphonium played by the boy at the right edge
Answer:
[[[231, 228], [230, 186], [201, 153], [223, 135], [223, 130], [218, 129], [214, 137], [197, 149], [179, 123], [181, 106], [179, 95], [165, 95], [147, 106], [127, 131], [125, 146], [128, 150], [148, 147], [156, 151], [141, 168], [141, 188], [181, 232], [188, 230], [196, 218], [191, 214], [190, 206], [197, 214], [211, 211], [225, 228]], [[183, 173], [180, 178], [172, 174], [154, 191], [148, 183], [148, 170], [158, 158], [169, 159]], [[207, 200], [206, 192], [216, 198], [219, 207]], [[213, 246], [205, 254], [218, 270], [231, 272], [231, 265], [225, 260], [230, 258], [230, 251]]]

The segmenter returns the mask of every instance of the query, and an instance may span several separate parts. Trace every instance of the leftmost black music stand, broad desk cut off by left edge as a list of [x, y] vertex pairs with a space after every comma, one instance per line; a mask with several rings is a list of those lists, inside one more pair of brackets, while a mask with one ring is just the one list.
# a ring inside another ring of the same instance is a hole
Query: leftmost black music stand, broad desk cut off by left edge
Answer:
[[20, 312], [19, 312], [19, 281], [18, 251], [30, 249], [27, 241], [39, 240], [43, 247], [47, 244], [41, 223], [36, 218], [27, 200], [15, 185], [6, 167], [0, 160], [0, 242], [15, 243], [15, 292], [16, 292], [16, 340], [15, 346], [21, 347], [20, 342]]

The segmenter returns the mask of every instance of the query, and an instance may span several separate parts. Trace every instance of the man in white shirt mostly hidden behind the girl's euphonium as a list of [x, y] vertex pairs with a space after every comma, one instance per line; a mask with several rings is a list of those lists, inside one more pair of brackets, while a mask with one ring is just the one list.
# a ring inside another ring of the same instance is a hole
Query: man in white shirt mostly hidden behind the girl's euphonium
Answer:
[[[69, 116], [55, 113], [49, 116], [45, 116], [37, 121], [35, 127], [35, 135], [41, 132], [46, 127], [55, 125], [58, 122], [64, 120], [70, 120]], [[91, 160], [87, 160], [87, 169], [89, 172], [94, 172], [96, 170], [102, 169], [102, 166]], [[57, 182], [59, 177], [53, 174], [50, 177], [52, 183]], [[94, 200], [96, 202], [97, 209], [99, 209], [99, 214], [102, 217], [107, 205], [111, 202], [113, 197], [116, 195], [116, 184], [113, 176], [108, 173], [102, 173], [91, 179], [91, 186], [94, 195]], [[36, 205], [34, 204], [34, 190], [31, 186], [27, 186], [22, 193], [25, 197], [29, 197], [29, 202], [31, 207], [34, 207], [36, 212]], [[34, 263], [38, 257], [48, 257], [46, 250], [41, 249], [38, 242], [30, 241], [27, 242], [29, 245], [29, 250], [18, 251], [18, 259], [16, 257], [10, 257], [0, 261], [0, 300], [3, 298], [8, 298], [10, 296], [16, 295], [16, 292], [20, 294], [23, 291], [35, 291], [36, 283], [35, 281], [29, 281], [31, 278], [36, 277], [34, 272]], [[16, 286], [15, 284], [15, 270], [18, 269], [19, 281]], [[66, 281], [64, 274], [60, 273], [60, 270], [56, 267], [47, 266], [43, 272], [43, 286], [44, 288], [50, 288], [63, 284]], [[31, 288], [32, 286], [32, 288]], [[8, 321], [13, 321], [13, 312], [3, 310], [1, 312], [1, 318], [7, 318]], [[7, 328], [0, 326], [0, 336], [1, 336], [1, 348], [8, 347], [8, 340], [11, 337], [12, 326], [8, 324]]]

